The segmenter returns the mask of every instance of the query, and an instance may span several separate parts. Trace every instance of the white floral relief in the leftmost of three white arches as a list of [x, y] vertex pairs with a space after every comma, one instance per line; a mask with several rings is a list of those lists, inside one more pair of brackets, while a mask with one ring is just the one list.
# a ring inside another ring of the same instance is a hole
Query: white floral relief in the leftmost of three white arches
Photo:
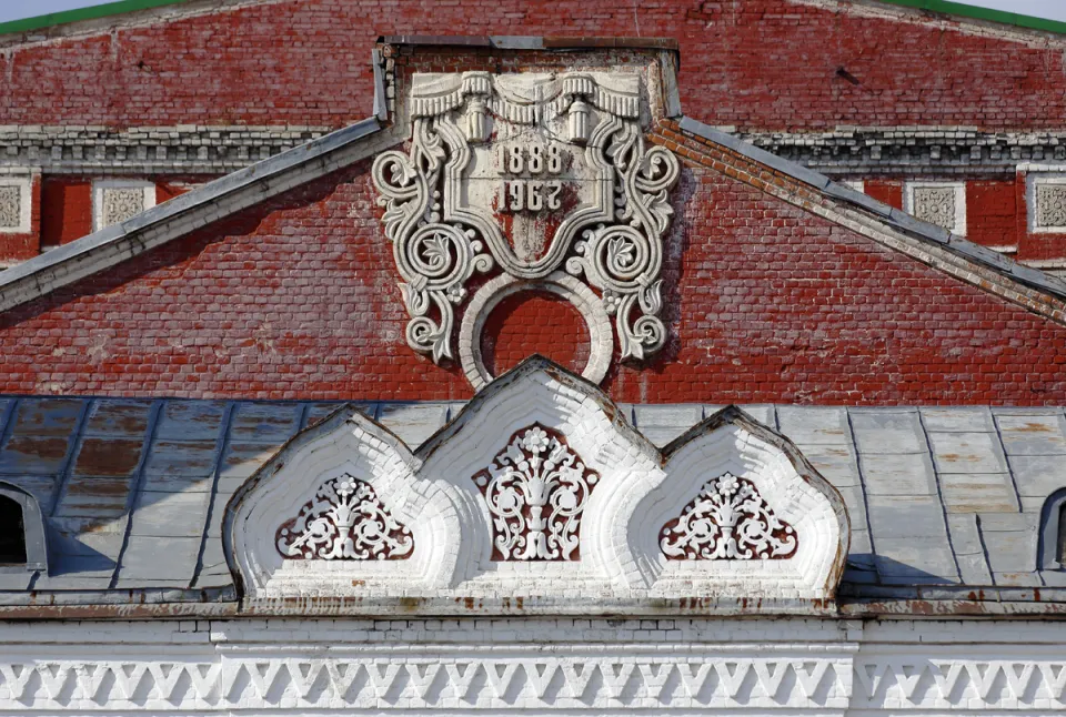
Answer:
[[401, 561], [414, 549], [365, 481], [344, 474], [323, 483], [300, 514], [278, 528], [278, 551], [304, 561]]

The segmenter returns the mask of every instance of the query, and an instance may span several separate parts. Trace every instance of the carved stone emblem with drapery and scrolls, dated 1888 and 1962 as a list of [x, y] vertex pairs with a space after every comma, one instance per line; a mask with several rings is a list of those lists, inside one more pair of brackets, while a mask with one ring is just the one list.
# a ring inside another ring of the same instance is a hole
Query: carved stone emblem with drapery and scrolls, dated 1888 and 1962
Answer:
[[466, 284], [494, 270], [583, 277], [623, 358], [663, 345], [662, 238], [680, 169], [645, 147], [640, 75], [415, 74], [409, 107], [410, 152], [379, 155], [373, 181], [411, 347], [452, 357]]

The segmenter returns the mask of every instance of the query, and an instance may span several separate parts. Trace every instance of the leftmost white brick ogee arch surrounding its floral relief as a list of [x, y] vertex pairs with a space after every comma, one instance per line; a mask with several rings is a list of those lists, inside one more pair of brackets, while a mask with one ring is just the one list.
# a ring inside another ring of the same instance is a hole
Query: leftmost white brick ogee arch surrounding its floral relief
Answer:
[[[459, 526], [447, 497], [415, 477], [419, 462], [398, 437], [354, 408], [342, 408], [271, 458], [233, 496], [223, 536], [227, 559], [253, 600], [355, 597], [354, 584], [384, 595], [445, 584], [455, 562], [443, 538]], [[403, 561], [291, 561], [275, 541], [326, 481], [351, 475], [369, 483], [410, 528], [414, 549]]]

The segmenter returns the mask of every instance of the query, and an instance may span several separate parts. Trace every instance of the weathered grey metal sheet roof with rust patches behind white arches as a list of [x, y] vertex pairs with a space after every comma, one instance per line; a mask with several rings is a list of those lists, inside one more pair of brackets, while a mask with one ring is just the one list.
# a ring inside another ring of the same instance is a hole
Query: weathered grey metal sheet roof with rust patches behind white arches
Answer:
[[[39, 499], [51, 561], [48, 575], [0, 574], [0, 590], [13, 598], [152, 589], [161, 600], [167, 590], [209, 590], [215, 597], [201, 599], [232, 599], [227, 502], [298, 431], [341, 405], [0, 398], [0, 479]], [[462, 404], [355, 405], [415, 447]], [[720, 407], [622, 410], [662, 446]], [[1056, 599], [1054, 588], [1066, 587], [1066, 574], [1036, 565], [1040, 508], [1066, 486], [1063, 408], [743, 407], [796, 443], [843, 494], [853, 528], [844, 596], [982, 586], [1053, 588], [1044, 599]]]

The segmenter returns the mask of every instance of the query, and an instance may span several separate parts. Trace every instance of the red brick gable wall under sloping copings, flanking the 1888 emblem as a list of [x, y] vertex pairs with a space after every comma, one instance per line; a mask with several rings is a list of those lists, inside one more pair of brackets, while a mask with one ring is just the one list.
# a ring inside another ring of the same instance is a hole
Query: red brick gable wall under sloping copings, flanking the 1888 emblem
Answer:
[[[0, 392], [469, 397], [404, 343], [373, 200], [364, 163], [8, 312]], [[619, 401], [1066, 402], [1066, 326], [710, 170], [675, 212], [670, 340]], [[503, 322], [507, 362], [553, 329]]]

